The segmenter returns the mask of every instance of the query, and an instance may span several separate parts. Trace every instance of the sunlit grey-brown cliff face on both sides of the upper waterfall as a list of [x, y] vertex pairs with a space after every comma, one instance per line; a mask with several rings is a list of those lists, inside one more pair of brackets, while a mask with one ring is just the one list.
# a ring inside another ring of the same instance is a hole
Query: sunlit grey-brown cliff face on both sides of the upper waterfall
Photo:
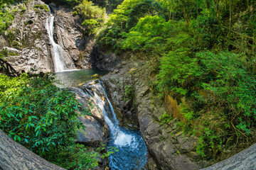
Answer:
[[[65, 51], [63, 60], [72, 62], [78, 69], [90, 67], [92, 45], [88, 44], [93, 44], [93, 41], [90, 39], [85, 43], [79, 17], [65, 8], [57, 8], [54, 4], [49, 6], [55, 16], [53, 38]], [[6, 60], [18, 72], [31, 69], [54, 72], [53, 46], [46, 30], [46, 20], [50, 16], [48, 6], [41, 0], [34, 0], [11, 8], [16, 8], [14, 21], [0, 37], [0, 47], [9, 52]]]

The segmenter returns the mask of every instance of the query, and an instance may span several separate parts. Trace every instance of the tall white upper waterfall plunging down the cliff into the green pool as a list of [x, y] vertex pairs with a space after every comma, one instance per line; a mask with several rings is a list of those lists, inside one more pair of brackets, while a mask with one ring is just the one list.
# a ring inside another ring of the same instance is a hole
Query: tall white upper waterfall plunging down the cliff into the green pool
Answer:
[[[49, 11], [50, 11], [50, 7], [48, 6]], [[48, 20], [50, 19], [50, 21]], [[55, 66], [55, 72], [63, 72], [69, 69], [75, 69], [75, 66], [72, 62], [72, 60], [70, 60], [70, 58], [66, 59], [68, 60], [68, 64], [65, 63], [65, 59], [63, 58], [63, 55], [65, 54], [65, 56], [68, 56], [68, 54], [66, 54], [67, 52], [65, 52], [65, 50], [63, 50], [62, 47], [60, 47], [60, 45], [56, 44], [54, 39], [53, 39], [53, 21], [54, 21], [54, 16], [50, 11], [50, 16], [49, 18], [46, 19], [46, 30], [48, 32], [49, 35], [49, 39], [50, 39], [50, 44], [53, 45], [53, 58], [54, 58], [54, 66]], [[68, 65], [68, 67], [67, 67]]]

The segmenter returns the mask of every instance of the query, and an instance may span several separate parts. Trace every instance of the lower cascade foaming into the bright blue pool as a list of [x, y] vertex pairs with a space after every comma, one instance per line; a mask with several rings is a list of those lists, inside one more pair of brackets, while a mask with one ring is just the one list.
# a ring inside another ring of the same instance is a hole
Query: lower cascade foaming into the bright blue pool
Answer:
[[110, 169], [129, 170], [144, 169], [147, 161], [147, 149], [142, 136], [137, 130], [128, 130], [119, 127], [114, 108], [107, 98], [102, 84], [95, 84], [87, 88], [83, 86], [87, 94], [102, 110], [105, 122], [110, 128], [110, 141], [108, 149], [117, 147], [118, 152], [110, 154]]

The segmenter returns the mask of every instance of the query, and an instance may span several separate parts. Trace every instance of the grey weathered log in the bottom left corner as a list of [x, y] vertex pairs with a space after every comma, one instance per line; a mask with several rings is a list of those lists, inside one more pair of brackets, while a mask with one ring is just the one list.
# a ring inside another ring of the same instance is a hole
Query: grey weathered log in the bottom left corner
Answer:
[[65, 170], [47, 162], [0, 130], [0, 169], [4, 170]]

